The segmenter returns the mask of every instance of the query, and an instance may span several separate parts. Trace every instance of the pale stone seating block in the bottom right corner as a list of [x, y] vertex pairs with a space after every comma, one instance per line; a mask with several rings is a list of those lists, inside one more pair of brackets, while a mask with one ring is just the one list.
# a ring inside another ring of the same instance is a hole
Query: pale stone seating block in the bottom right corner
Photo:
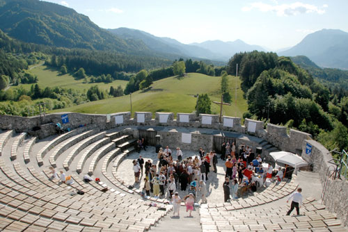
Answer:
[[[201, 208], [202, 231], [346, 231], [340, 219], [310, 198], [299, 216], [287, 216], [289, 206], [265, 209]], [[294, 214], [296, 210], [292, 213]], [[295, 213], [296, 214], [296, 213]]]

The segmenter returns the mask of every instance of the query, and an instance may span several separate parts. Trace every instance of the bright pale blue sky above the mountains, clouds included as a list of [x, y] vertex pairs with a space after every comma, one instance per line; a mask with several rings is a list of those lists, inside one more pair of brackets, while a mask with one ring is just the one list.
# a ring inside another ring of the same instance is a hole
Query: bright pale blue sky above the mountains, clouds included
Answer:
[[47, 0], [102, 28], [136, 28], [184, 44], [243, 40], [276, 50], [322, 28], [348, 31], [347, 0]]

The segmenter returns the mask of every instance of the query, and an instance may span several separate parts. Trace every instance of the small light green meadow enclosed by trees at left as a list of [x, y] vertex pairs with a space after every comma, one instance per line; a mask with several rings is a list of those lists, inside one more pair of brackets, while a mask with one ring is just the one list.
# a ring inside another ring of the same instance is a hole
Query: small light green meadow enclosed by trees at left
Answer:
[[[74, 90], [84, 91], [88, 90], [90, 86], [98, 85], [98, 87], [101, 90], [110, 90], [110, 86], [113, 86], [114, 88], [117, 88], [118, 85], [121, 85], [124, 89], [127, 85], [127, 81], [113, 81], [113, 83], [83, 83], [84, 80], [75, 80], [73, 76], [70, 74], [60, 75], [59, 72], [55, 69], [51, 69], [45, 65], [41, 65], [38, 67], [35, 67], [30, 70], [32, 74], [35, 74], [38, 76], [38, 85], [40, 88], [44, 89], [47, 86], [53, 88], [53, 87], [62, 87], [62, 88], [72, 88]], [[29, 90], [31, 87], [31, 84], [23, 84], [19, 85], [23, 88]], [[17, 88], [16, 86], [13, 86], [11, 88]]]

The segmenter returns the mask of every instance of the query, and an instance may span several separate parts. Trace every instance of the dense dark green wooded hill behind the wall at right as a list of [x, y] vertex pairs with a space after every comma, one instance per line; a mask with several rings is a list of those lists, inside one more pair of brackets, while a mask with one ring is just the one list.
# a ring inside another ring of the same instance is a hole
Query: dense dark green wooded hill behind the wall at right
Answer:
[[227, 70], [240, 67], [248, 101], [244, 117], [311, 133], [329, 149], [348, 148], [348, 97], [319, 83], [288, 57], [253, 51], [237, 53]]

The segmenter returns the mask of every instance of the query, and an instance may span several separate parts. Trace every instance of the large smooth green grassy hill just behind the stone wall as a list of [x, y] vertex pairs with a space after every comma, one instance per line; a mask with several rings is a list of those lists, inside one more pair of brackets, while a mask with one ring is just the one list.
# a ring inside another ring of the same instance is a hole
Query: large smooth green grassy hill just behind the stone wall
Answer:
[[[242, 98], [243, 92], [237, 89], [237, 106], [235, 103], [235, 77], [230, 76], [230, 88], [232, 90], [232, 106], [223, 106], [223, 115], [242, 117], [247, 110], [246, 100]], [[196, 106], [196, 98], [193, 94], [207, 93], [212, 101], [220, 101], [219, 94], [221, 78], [216, 76], [206, 76], [203, 74], [191, 73], [186, 77], [178, 79], [176, 77], [164, 78], [155, 81], [150, 91], [137, 91], [132, 94], [132, 112], [150, 111], [191, 113]], [[239, 79], [237, 80], [240, 86]], [[130, 110], [129, 95], [102, 101], [93, 101], [65, 108], [59, 111], [70, 111], [78, 113], [115, 113]], [[212, 112], [218, 114], [219, 106], [212, 103]]]

